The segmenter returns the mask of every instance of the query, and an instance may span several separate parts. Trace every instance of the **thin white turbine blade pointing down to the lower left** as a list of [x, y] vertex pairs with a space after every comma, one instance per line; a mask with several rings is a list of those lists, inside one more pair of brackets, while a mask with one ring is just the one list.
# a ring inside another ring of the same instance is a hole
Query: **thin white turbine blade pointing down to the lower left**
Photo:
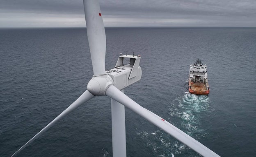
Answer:
[[78, 106], [84, 104], [85, 102], [87, 102], [88, 100], [90, 100], [93, 97], [94, 97], [94, 95], [92, 95], [91, 93], [89, 93], [89, 91], [86, 90], [80, 97], [78, 97], [77, 100], [75, 100], [75, 102], [73, 102], [73, 104], [71, 104], [68, 108], [66, 108], [66, 110], [64, 110], [60, 115], [58, 115], [55, 119], [53, 119], [52, 122], [50, 122], [46, 127], [44, 127], [41, 131], [39, 131], [39, 133], [37, 133], [37, 135], [32, 137], [32, 139], [30, 139], [26, 144], [24, 144], [24, 146], [22, 146], [13, 155], [11, 155], [11, 157], [14, 157], [17, 153], [19, 153], [21, 150], [23, 150], [23, 148], [25, 148], [27, 145], [29, 145], [31, 142], [33, 142], [35, 139], [37, 139], [43, 132], [48, 130], [57, 121], [59, 121], [59, 119], [61, 119], [65, 115], [69, 114], [75, 108], [78, 108]]

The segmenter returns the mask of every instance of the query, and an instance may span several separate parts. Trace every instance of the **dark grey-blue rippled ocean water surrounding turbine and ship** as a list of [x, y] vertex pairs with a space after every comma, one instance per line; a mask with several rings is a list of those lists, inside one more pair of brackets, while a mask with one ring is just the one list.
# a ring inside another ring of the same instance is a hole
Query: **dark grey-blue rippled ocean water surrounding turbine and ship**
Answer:
[[[256, 28], [106, 29], [106, 70], [141, 54], [125, 88], [222, 157], [256, 156]], [[9, 157], [76, 100], [93, 75], [86, 29], [0, 29], [0, 156]], [[210, 95], [187, 93], [189, 65], [208, 66]], [[18, 157], [111, 157], [110, 98], [57, 122]], [[199, 157], [126, 108], [127, 157]]]

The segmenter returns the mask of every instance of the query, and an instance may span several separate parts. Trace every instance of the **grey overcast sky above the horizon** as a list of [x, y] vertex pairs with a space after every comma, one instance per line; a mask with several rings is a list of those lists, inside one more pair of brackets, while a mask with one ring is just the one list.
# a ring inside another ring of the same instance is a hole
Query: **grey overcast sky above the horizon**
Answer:
[[[256, 27], [256, 0], [99, 0], [105, 27]], [[0, 27], [85, 27], [82, 0], [0, 0]]]

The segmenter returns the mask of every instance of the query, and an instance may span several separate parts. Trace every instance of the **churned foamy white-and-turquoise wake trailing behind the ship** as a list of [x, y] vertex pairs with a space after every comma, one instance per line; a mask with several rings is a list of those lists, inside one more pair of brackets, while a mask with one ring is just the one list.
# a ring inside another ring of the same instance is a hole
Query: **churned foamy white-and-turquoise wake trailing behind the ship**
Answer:
[[[176, 98], [169, 106], [171, 123], [183, 130], [195, 139], [208, 136], [206, 128], [201, 127], [201, 114], [210, 113], [210, 99], [207, 95], [193, 95], [184, 93]], [[157, 157], [190, 156], [199, 157], [197, 153], [190, 151], [186, 145], [174, 140], [161, 130], [153, 132], [142, 131], [137, 133], [147, 142], [152, 153]], [[190, 152], [190, 153], [188, 153]]]

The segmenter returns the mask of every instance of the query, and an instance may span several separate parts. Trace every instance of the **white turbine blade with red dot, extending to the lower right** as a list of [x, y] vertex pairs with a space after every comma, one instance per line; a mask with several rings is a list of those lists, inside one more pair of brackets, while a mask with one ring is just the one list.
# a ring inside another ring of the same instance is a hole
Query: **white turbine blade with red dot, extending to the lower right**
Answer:
[[210, 150], [197, 140], [193, 139], [180, 129], [176, 128], [174, 125], [170, 124], [158, 115], [152, 113], [151, 111], [148, 111], [146, 108], [143, 108], [142, 106], [137, 104], [124, 93], [119, 91], [119, 89], [117, 89], [116, 87], [110, 86], [109, 88], [107, 88], [106, 95], [116, 100], [117, 102], [123, 104], [124, 106], [130, 108], [135, 113], [141, 115], [155, 126], [158, 126], [169, 135], [178, 139], [183, 144], [186, 144], [188, 147], [192, 148], [197, 153], [201, 154], [203, 157], [220, 157], [219, 155], [214, 153], [212, 150]]

